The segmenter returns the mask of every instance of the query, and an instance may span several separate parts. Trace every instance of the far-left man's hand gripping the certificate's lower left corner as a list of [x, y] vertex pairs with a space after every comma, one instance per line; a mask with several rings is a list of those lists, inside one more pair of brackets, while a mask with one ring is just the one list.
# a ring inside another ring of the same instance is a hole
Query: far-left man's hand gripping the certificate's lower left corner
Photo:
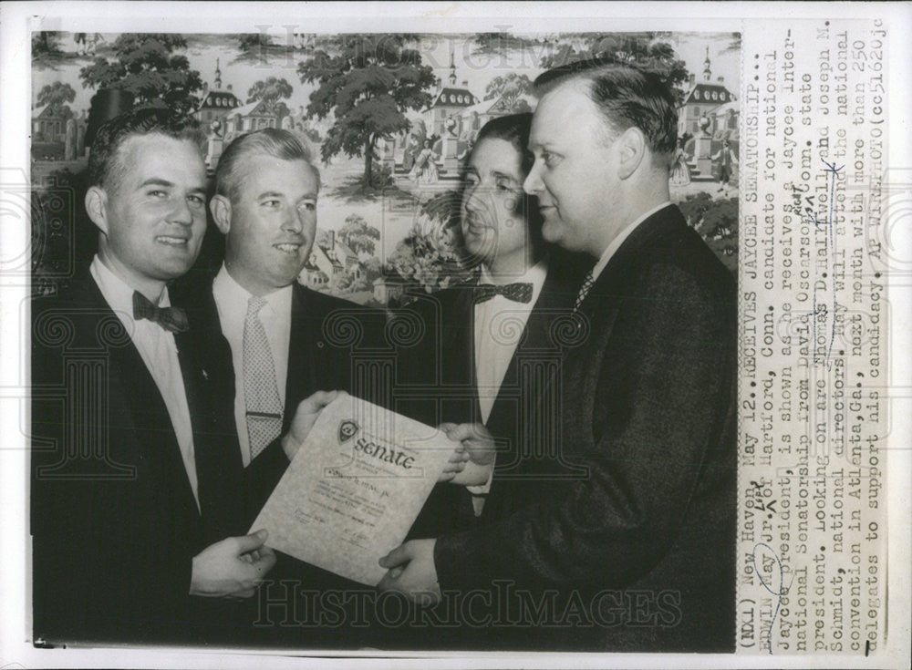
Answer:
[[249, 598], [275, 565], [275, 551], [264, 545], [268, 533], [226, 538], [193, 557], [191, 595]]

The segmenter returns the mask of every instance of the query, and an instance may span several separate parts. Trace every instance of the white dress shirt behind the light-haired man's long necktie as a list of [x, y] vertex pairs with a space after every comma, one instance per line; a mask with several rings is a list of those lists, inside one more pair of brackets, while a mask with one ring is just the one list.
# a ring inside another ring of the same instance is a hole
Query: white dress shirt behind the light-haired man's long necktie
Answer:
[[[237, 437], [241, 443], [241, 458], [244, 467], [250, 464], [250, 438], [247, 435], [247, 406], [244, 400], [244, 321], [247, 318], [247, 302], [251, 293], [234, 281], [222, 265], [212, 282], [212, 296], [219, 310], [222, 334], [231, 345], [234, 365], [234, 422]], [[288, 345], [291, 339], [292, 286], [288, 285], [264, 295], [266, 301], [260, 310], [260, 321], [269, 340], [269, 350], [275, 362], [275, 383], [279, 399], [285, 406], [285, 382], [288, 378]]]

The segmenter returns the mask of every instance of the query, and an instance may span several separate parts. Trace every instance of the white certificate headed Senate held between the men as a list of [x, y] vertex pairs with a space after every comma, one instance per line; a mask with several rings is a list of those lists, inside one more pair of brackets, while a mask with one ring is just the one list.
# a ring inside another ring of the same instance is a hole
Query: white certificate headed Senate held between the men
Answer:
[[376, 585], [455, 445], [445, 434], [342, 394], [326, 406], [252, 527], [269, 546]]

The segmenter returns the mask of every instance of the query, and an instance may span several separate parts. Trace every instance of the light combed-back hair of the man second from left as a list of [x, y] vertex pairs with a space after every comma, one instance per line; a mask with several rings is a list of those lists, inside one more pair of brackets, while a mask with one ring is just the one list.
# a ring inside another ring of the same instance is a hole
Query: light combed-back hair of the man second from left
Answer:
[[244, 179], [244, 159], [271, 156], [279, 160], [303, 160], [314, 172], [320, 187], [320, 171], [314, 165], [310, 149], [290, 130], [264, 128], [234, 139], [224, 150], [215, 169], [215, 192], [237, 202]]

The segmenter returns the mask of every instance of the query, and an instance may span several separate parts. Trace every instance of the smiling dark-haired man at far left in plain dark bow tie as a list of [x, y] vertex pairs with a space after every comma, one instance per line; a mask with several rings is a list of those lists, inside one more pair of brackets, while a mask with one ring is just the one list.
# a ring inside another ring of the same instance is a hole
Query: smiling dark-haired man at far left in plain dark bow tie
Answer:
[[[171, 306], [206, 227], [200, 142], [152, 109], [104, 124], [85, 200], [98, 253], [33, 304], [33, 609], [47, 644], [210, 639], [275, 563], [266, 533], [239, 523], [253, 479], [227, 344], [193, 337]], [[293, 449], [295, 428], [272, 448]]]

